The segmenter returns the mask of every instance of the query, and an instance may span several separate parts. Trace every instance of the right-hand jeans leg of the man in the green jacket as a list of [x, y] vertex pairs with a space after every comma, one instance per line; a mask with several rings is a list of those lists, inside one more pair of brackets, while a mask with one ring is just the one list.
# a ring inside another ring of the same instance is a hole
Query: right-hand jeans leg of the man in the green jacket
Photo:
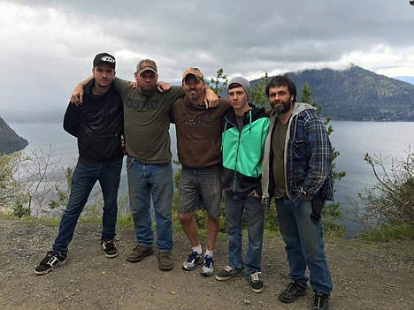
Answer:
[[249, 248], [246, 253], [244, 265], [246, 273], [251, 275], [262, 271], [262, 246], [263, 231], [265, 225], [265, 210], [259, 198], [251, 195], [244, 199], [247, 217], [247, 230], [249, 237]]

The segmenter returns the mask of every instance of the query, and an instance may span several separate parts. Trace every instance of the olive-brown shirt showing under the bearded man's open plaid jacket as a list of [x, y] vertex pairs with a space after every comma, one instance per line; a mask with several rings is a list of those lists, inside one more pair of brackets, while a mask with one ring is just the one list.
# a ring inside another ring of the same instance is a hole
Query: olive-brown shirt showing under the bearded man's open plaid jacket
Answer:
[[282, 124], [282, 122], [278, 119], [272, 136], [272, 170], [274, 178], [274, 198], [276, 199], [286, 197], [284, 154], [287, 132], [288, 122], [286, 124]]

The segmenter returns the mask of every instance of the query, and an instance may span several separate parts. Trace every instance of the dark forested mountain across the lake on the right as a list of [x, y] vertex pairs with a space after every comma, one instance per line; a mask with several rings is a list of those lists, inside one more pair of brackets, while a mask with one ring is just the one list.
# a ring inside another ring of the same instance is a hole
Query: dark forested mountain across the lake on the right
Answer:
[[[345, 70], [288, 72], [298, 100], [305, 82], [323, 116], [336, 120], [414, 121], [414, 85], [351, 65]], [[251, 81], [257, 83], [258, 79]]]

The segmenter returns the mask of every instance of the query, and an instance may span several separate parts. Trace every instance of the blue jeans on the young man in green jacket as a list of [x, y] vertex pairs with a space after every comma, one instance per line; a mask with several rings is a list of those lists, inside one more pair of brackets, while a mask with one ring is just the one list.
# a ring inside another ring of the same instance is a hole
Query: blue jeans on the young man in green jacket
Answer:
[[[242, 261], [242, 215], [246, 211], [249, 247]], [[259, 198], [251, 195], [235, 200], [226, 193], [226, 233], [228, 238], [228, 264], [233, 268], [247, 268], [251, 275], [262, 271], [262, 244], [265, 210]]]

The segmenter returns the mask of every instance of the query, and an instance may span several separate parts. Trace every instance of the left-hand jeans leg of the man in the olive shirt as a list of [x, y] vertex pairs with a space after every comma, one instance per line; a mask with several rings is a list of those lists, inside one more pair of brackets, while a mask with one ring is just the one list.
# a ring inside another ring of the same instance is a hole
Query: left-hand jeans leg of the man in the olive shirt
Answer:
[[150, 186], [148, 171], [144, 163], [132, 157], [126, 159], [129, 208], [134, 220], [135, 237], [142, 246], [152, 246], [154, 239], [150, 215]]

